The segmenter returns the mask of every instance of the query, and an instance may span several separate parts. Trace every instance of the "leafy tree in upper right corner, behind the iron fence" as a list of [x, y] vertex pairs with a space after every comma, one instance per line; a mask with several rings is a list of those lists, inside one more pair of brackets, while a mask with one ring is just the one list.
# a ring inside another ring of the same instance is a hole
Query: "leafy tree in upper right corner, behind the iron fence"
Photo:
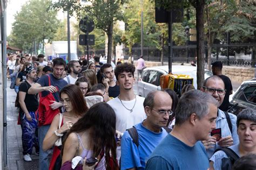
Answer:
[[211, 69], [212, 46], [215, 38], [226, 39], [223, 35], [231, 33], [232, 41], [240, 41], [253, 36], [256, 28], [256, 8], [249, 2], [222, 0], [208, 2], [206, 5], [206, 36], [208, 47], [208, 69]]

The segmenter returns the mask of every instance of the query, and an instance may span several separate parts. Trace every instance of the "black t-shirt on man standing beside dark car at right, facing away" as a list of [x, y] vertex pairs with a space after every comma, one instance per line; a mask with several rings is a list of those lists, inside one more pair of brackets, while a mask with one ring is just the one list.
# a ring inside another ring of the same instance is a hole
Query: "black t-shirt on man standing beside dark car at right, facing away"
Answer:
[[219, 75], [219, 77], [224, 81], [225, 89], [226, 89], [226, 94], [225, 94], [223, 103], [220, 105], [219, 109], [222, 111], [227, 111], [228, 107], [230, 106], [230, 101], [229, 101], [230, 91], [233, 90], [233, 87], [232, 87], [230, 78], [228, 78], [225, 75]]

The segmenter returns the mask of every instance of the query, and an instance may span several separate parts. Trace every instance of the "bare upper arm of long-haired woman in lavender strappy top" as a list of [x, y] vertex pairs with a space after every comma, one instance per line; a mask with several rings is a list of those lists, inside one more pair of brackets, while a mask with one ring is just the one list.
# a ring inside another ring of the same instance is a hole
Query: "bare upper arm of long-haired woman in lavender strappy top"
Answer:
[[70, 133], [68, 138], [65, 141], [63, 156], [62, 156], [62, 165], [66, 161], [71, 161], [78, 150], [78, 137], [75, 133]]

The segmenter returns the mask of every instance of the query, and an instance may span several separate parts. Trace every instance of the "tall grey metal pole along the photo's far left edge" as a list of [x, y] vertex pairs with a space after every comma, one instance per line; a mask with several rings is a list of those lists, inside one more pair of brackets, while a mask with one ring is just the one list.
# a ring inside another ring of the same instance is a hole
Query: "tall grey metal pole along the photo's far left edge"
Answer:
[[2, 31], [3, 31], [3, 143], [4, 143], [4, 167], [7, 166], [7, 120], [6, 120], [6, 4], [4, 4], [4, 12], [3, 12], [3, 25], [2, 25]]

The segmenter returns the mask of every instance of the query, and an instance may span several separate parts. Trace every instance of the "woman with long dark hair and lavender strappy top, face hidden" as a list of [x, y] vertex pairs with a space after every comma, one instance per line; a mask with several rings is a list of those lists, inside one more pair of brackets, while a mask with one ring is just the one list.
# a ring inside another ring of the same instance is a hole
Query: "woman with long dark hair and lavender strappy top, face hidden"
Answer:
[[93, 105], [66, 135], [61, 169], [71, 169], [71, 160], [77, 156], [84, 159], [77, 169], [90, 158], [97, 158], [97, 162], [91, 167], [84, 165], [84, 169], [93, 166], [95, 169], [118, 169], [115, 132], [116, 114], [110, 105], [103, 102]]

